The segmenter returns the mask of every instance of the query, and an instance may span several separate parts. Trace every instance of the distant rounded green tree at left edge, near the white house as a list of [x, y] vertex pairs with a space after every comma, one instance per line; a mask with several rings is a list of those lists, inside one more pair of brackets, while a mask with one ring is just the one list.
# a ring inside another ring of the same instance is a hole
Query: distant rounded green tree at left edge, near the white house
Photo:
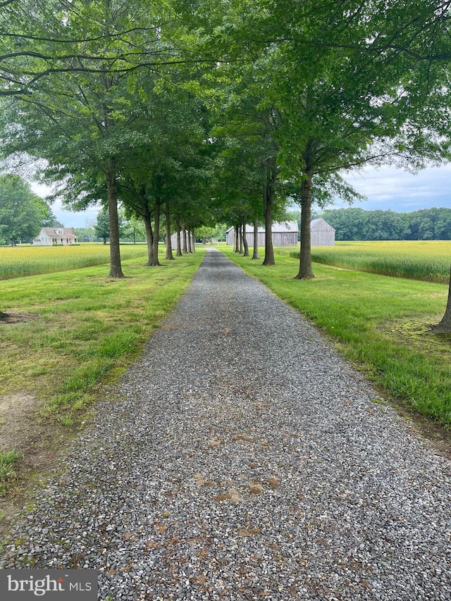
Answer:
[[[48, 209], [48, 206], [47, 206]], [[47, 217], [42, 199], [18, 175], [0, 175], [0, 235], [16, 246], [18, 240], [30, 242]]]

